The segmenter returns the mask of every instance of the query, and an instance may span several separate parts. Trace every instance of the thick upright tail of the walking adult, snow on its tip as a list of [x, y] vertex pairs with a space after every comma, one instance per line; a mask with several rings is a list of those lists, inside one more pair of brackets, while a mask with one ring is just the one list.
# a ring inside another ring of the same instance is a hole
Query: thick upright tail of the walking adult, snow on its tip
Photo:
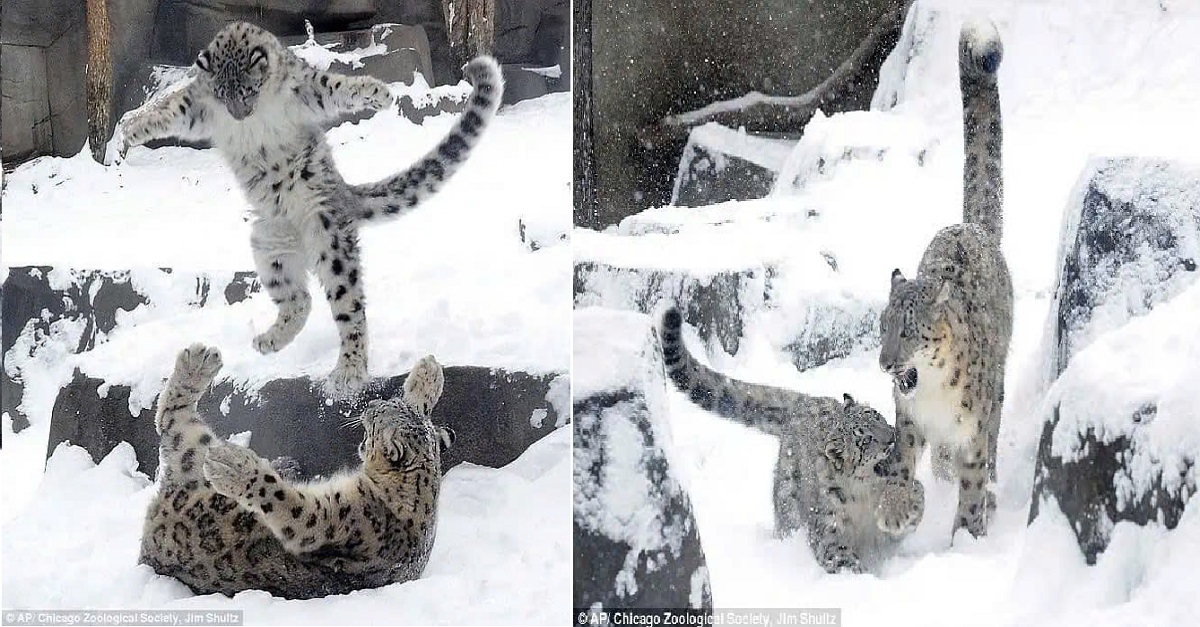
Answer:
[[979, 225], [997, 241], [1004, 227], [1003, 131], [996, 71], [1004, 55], [990, 20], [968, 22], [959, 36], [962, 91], [962, 221]]

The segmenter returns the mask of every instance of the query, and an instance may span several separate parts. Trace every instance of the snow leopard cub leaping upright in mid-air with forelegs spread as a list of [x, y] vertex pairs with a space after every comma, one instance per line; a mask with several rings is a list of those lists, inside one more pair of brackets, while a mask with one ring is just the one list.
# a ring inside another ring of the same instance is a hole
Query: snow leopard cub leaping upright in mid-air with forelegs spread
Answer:
[[194, 72], [187, 86], [124, 123], [127, 147], [161, 137], [212, 141], [253, 207], [254, 265], [278, 306], [254, 348], [278, 351], [300, 333], [312, 307], [307, 270], [314, 269], [341, 338], [328, 389], [358, 392], [367, 380], [358, 229], [413, 209], [462, 166], [500, 104], [499, 66], [490, 56], [467, 64], [474, 90], [449, 135], [410, 168], [365, 185], [342, 179], [320, 124], [391, 106], [383, 82], [311, 67], [246, 23], [222, 29]]

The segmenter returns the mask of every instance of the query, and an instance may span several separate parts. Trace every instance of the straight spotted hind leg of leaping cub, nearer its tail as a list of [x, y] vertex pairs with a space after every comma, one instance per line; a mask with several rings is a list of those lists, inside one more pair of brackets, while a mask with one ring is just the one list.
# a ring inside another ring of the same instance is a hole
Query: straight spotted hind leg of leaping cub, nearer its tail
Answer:
[[[344, 211], [343, 211], [344, 213]], [[326, 392], [352, 396], [367, 381], [367, 316], [362, 293], [358, 233], [325, 209], [308, 225], [308, 249], [317, 251], [317, 276], [337, 324], [341, 351]]]

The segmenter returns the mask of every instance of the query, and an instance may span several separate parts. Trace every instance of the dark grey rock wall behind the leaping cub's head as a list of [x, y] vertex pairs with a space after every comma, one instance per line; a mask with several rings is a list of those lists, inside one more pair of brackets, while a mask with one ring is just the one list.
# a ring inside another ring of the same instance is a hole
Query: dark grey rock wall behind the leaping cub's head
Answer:
[[[281, 36], [397, 23], [424, 30], [415, 46], [430, 84], [456, 83], [440, 0], [107, 0], [114, 115], [140, 104], [154, 65], [190, 65], [224, 24], [247, 20]], [[505, 102], [570, 89], [568, 0], [498, 0], [496, 55]], [[88, 32], [80, 0], [5, 1], [0, 16], [0, 147], [5, 161], [74, 155], [83, 147]], [[415, 40], [414, 40], [415, 41]], [[557, 77], [529, 72], [559, 65]], [[406, 80], [408, 77], [403, 77]], [[386, 78], [385, 78], [386, 79]]]

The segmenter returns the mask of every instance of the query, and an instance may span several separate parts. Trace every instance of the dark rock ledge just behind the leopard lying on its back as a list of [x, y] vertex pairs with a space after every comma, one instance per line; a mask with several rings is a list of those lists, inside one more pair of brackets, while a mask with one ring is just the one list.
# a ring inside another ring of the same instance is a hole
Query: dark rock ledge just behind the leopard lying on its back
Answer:
[[[217, 435], [251, 431], [250, 446], [265, 459], [290, 458], [300, 476], [328, 476], [358, 462], [362, 429], [342, 426], [371, 399], [403, 394], [404, 376], [377, 380], [359, 401], [326, 405], [319, 382], [287, 378], [247, 392], [218, 382], [204, 394], [199, 411]], [[104, 386], [104, 395], [98, 389]], [[444, 470], [468, 461], [500, 467], [532, 443], [569, 422], [565, 375], [528, 375], [505, 370], [446, 366], [437, 424], [450, 425], [457, 438], [443, 460]], [[64, 441], [83, 447], [97, 462], [118, 443], [128, 442], [142, 472], [158, 467], [154, 410], [133, 416], [130, 388], [108, 386], [78, 370], [54, 404], [47, 455]]]

